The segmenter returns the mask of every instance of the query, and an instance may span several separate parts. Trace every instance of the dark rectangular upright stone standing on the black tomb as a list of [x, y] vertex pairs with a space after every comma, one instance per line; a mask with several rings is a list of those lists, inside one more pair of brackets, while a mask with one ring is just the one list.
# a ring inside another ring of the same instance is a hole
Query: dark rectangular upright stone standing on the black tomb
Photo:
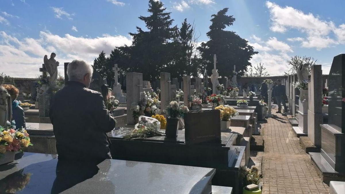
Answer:
[[186, 144], [215, 142], [220, 145], [220, 111], [203, 110], [184, 114]]

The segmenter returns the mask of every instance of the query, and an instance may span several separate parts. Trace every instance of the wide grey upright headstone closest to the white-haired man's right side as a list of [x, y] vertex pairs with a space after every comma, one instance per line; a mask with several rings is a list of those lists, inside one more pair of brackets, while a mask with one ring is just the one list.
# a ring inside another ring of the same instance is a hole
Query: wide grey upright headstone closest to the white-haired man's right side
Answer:
[[131, 110], [132, 103], [140, 101], [140, 93], [142, 92], [142, 74], [135, 72], [128, 72], [126, 74], [126, 88], [127, 88], [127, 124], [134, 125], [133, 111]]

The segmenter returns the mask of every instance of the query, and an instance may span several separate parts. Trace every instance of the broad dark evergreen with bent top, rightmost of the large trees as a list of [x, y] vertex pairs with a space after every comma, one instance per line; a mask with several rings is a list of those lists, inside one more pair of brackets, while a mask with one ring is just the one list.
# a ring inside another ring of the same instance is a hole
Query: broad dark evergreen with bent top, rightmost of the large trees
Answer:
[[227, 16], [228, 8], [213, 14], [210, 20], [212, 22], [207, 32], [209, 41], [201, 43], [198, 47], [201, 53], [203, 66], [207, 68], [208, 74], [213, 69], [213, 54], [217, 55], [217, 69], [222, 77], [232, 76], [234, 65], [239, 76], [244, 74], [247, 66], [250, 66], [249, 60], [255, 52], [248, 41], [238, 36], [233, 31], [224, 30], [226, 27], [233, 25], [235, 18]]

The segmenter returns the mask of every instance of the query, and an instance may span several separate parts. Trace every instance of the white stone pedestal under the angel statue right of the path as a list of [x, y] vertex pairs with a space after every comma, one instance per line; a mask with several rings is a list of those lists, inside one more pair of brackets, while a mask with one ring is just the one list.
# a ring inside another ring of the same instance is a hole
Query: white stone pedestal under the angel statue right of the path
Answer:
[[298, 100], [298, 126], [292, 127], [297, 137], [308, 135], [308, 100]]

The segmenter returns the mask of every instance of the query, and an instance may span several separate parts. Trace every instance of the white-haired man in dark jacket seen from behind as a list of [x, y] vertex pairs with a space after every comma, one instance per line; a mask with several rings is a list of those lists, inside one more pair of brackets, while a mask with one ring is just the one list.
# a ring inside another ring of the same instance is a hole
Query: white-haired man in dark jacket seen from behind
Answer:
[[59, 160], [101, 161], [111, 158], [106, 132], [115, 127], [102, 95], [88, 89], [92, 66], [73, 60], [67, 66], [69, 81], [52, 97], [50, 120]]

